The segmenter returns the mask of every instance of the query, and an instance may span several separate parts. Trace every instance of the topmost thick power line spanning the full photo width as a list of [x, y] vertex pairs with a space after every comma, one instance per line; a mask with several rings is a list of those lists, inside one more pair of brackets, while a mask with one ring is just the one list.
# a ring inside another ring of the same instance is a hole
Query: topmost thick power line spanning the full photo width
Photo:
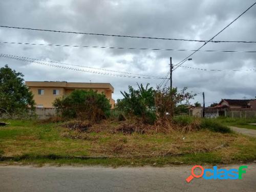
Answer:
[[[180, 39], [180, 38], [163, 38], [163, 37], [147, 37], [147, 36], [131, 36], [131, 35], [116, 35], [116, 34], [104, 34], [104, 33], [85, 33], [85, 32], [74, 32], [74, 31], [60, 31], [60, 30], [49, 30], [49, 29], [36, 29], [36, 28], [26, 28], [26, 27], [12, 27], [3, 26], [2, 28], [12, 28], [12, 29], [25, 29], [33, 31], [48, 31], [56, 33], [74, 33], [83, 35], [99, 35], [99, 36], [112, 36], [112, 37], [129, 37], [129, 38], [142, 38], [142, 39], [159, 39], [159, 40], [182, 40], [182, 41], [196, 41], [196, 42], [207, 42], [207, 40], [197, 40], [197, 39]], [[255, 43], [256, 41], [228, 41], [228, 40], [211, 40], [210, 42], [244, 42], [244, 43]]]

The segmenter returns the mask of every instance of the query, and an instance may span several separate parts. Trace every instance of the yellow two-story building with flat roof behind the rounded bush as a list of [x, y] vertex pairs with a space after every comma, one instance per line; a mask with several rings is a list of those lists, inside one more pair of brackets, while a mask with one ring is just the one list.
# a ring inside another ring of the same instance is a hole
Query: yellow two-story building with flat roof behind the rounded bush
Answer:
[[54, 108], [55, 98], [70, 94], [74, 90], [93, 90], [104, 94], [109, 99], [112, 108], [115, 100], [112, 99], [114, 88], [110, 83], [87, 83], [67, 81], [26, 81], [26, 86], [32, 91], [37, 108]]

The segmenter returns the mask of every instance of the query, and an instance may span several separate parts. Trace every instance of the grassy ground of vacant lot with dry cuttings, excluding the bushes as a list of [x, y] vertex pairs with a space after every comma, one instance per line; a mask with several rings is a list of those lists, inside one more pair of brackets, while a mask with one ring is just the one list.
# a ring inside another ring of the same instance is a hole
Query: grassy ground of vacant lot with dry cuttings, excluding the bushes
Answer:
[[[217, 164], [256, 159], [256, 139], [210, 131], [168, 134], [77, 132], [61, 123], [9, 121], [0, 127], [2, 163], [102, 165]], [[109, 129], [117, 122], [103, 121]], [[83, 159], [77, 158], [83, 156]], [[8, 159], [12, 157], [12, 159]], [[87, 158], [90, 157], [90, 158]]]

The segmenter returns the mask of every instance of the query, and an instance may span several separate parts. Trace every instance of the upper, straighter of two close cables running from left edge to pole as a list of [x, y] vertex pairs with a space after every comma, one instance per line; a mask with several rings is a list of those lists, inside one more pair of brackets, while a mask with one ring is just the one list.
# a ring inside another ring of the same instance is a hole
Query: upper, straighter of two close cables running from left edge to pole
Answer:
[[22, 56], [17, 56], [17, 55], [10, 55], [10, 54], [5, 54], [5, 55], [11, 56], [11, 57], [23, 58], [23, 59], [31, 59], [31, 60], [39, 60], [39, 61], [44, 61], [44, 62], [59, 63], [59, 64], [62, 64], [62, 65], [68, 65], [68, 66], [75, 66], [75, 67], [82, 67], [82, 68], [89, 68], [89, 69], [96, 69], [96, 70], [110, 71], [110, 72], [117, 72], [117, 73], [125, 73], [125, 74], [130, 74], [130, 75], [140, 75], [140, 76], [145, 76], [145, 77], [161, 78], [159, 76], [142, 75], [142, 74], [136, 74], [136, 73], [122, 72], [122, 71], [115, 71], [115, 70], [107, 70], [107, 69], [102, 69], [102, 68], [94, 68], [94, 67], [88, 67], [88, 66], [79, 66], [79, 65], [73, 65], [73, 64], [70, 64], [70, 63], [58, 62], [58, 61], [48, 61], [48, 60], [35, 59], [35, 58], [29, 58], [29, 57], [22, 57]]

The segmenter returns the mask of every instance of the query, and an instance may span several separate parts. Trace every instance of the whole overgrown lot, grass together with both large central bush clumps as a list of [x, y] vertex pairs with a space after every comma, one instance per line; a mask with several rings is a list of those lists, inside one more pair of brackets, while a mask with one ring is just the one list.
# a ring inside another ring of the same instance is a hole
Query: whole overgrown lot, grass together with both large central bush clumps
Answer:
[[[230, 119], [185, 114], [194, 95], [138, 85], [111, 110], [94, 91], [57, 98], [61, 116], [0, 129], [0, 160], [103, 165], [234, 163], [256, 159], [256, 139], [232, 133]], [[172, 96], [172, 97], [171, 97]], [[237, 121], [236, 121], [237, 123]]]

